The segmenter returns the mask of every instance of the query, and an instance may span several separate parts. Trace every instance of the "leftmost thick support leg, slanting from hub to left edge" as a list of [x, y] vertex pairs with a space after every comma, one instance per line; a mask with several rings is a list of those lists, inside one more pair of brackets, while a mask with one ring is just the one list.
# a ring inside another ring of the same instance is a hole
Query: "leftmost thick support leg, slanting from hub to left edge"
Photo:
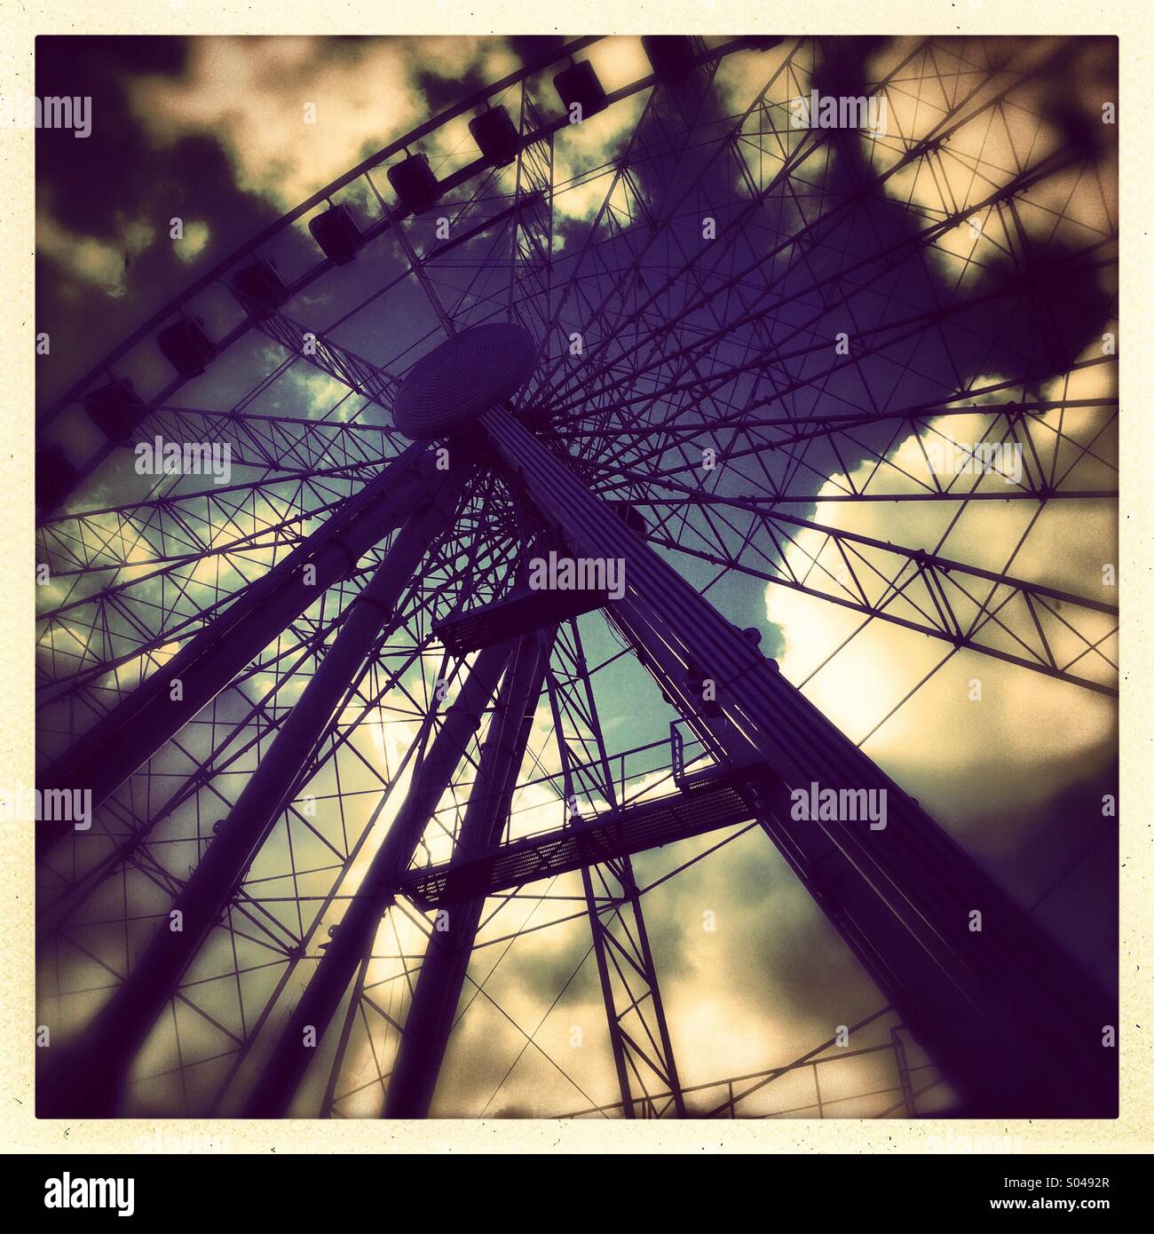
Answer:
[[[411, 447], [375, 480], [351, 497], [279, 565], [247, 586], [233, 602], [163, 669], [156, 670], [73, 743], [37, 779], [42, 789], [88, 789], [93, 807], [152, 758], [274, 638], [407, 513], [438, 490], [441, 476]], [[315, 578], [305, 566], [311, 565]], [[169, 697], [179, 679], [183, 697]], [[51, 851], [72, 830], [69, 823], [39, 823], [36, 851]]]

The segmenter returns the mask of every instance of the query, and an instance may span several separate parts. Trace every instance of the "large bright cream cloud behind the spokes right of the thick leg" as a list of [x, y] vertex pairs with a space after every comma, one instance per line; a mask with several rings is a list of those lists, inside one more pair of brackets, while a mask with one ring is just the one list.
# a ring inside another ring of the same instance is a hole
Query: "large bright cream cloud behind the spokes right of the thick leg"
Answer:
[[[1056, 423], [1058, 415], [1047, 418]], [[1068, 423], [1070, 418], [1066, 412]], [[989, 423], [980, 412], [939, 417], [929, 422], [926, 436], [978, 442]], [[926, 476], [913, 433], [887, 458], [911, 475]], [[864, 462], [849, 480], [864, 485], [871, 470]], [[1115, 513], [1106, 502], [1055, 501], [1040, 515], [1032, 502], [971, 502], [954, 522], [950, 502], [822, 501], [845, 481], [836, 475], [823, 485], [815, 522], [927, 548], [1076, 595], [1115, 598], [1102, 585], [1102, 564], [1116, 536]], [[894, 486], [912, 490], [915, 481], [895, 480]], [[1024, 548], [1015, 553], [1027, 532]], [[832, 575], [841, 566], [841, 555], [823, 532], [801, 531], [786, 552], [786, 564], [805, 574], [813, 559]], [[829, 580], [829, 590], [837, 591], [836, 581]], [[874, 619], [831, 658], [861, 626], [860, 612], [775, 585], [768, 587], [765, 605], [785, 639], [782, 671], [803, 684], [807, 697], [849, 737], [865, 738], [901, 705], [863, 748], [900, 784], [924, 795], [931, 813], [969, 823], [982, 843], [1016, 844], [1019, 838], [1012, 828], [998, 832], [979, 824], [994, 812], [1036, 807], [1076, 782], [1112, 739], [1116, 714], [1108, 698], [975, 652], [954, 655], [902, 703], [949, 654], [948, 643]], [[1095, 637], [1113, 624], [1105, 615], [1087, 622]], [[974, 680], [981, 682], [980, 701], [970, 701]]]

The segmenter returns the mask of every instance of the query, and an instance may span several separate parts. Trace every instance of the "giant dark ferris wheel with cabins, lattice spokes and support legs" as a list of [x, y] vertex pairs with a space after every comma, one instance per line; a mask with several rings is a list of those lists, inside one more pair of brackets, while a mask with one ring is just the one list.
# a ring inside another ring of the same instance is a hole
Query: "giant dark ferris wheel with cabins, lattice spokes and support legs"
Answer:
[[[430, 117], [43, 410], [38, 776], [93, 812], [37, 827], [42, 1114], [1113, 1108], [1110, 995], [871, 756], [959, 664], [1117, 694], [1094, 48], [633, 42]], [[808, 687], [879, 629], [843, 732]], [[715, 1064], [671, 932], [797, 888], [859, 1001]]]

